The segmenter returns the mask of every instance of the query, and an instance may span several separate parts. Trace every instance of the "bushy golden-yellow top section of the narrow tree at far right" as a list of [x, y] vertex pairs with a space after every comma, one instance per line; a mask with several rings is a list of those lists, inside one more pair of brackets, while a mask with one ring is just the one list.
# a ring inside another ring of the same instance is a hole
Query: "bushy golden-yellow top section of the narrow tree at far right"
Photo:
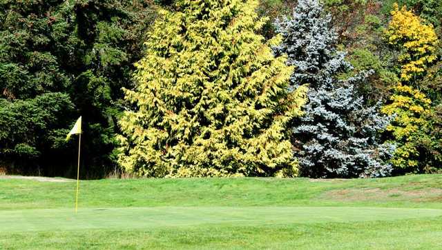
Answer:
[[438, 39], [431, 24], [426, 25], [421, 18], [407, 10], [399, 9], [394, 3], [392, 20], [385, 30], [388, 41], [401, 50], [398, 58], [401, 63], [401, 80], [409, 82], [425, 74], [427, 66], [436, 61]]

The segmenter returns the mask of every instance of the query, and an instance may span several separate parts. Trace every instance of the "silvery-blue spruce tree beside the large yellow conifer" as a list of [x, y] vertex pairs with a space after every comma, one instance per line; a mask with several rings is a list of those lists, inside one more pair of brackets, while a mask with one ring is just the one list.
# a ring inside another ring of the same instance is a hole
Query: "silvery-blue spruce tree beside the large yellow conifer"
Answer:
[[339, 80], [338, 74], [352, 70], [345, 53], [336, 50], [331, 17], [318, 0], [300, 0], [292, 17], [276, 21], [283, 42], [276, 54], [287, 54], [296, 66], [291, 88], [309, 85], [305, 116], [294, 122], [292, 145], [300, 164], [300, 175], [312, 178], [388, 176], [385, 164], [394, 147], [380, 145], [378, 134], [390, 119], [379, 105], [367, 107], [357, 87], [371, 72]]

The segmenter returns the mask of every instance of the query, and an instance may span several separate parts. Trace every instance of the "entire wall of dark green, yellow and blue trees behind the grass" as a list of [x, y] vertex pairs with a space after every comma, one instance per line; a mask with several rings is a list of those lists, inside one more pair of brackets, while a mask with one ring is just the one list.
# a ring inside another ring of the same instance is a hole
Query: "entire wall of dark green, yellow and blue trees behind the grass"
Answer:
[[442, 171], [442, 2], [0, 0], [0, 168]]

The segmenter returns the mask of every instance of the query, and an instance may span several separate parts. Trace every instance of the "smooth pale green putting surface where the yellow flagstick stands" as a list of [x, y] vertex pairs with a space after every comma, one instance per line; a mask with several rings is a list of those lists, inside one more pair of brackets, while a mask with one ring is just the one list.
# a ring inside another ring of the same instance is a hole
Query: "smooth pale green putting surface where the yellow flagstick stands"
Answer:
[[0, 211], [1, 231], [152, 229], [204, 224], [275, 225], [405, 220], [442, 216], [440, 209], [372, 207], [129, 207]]

